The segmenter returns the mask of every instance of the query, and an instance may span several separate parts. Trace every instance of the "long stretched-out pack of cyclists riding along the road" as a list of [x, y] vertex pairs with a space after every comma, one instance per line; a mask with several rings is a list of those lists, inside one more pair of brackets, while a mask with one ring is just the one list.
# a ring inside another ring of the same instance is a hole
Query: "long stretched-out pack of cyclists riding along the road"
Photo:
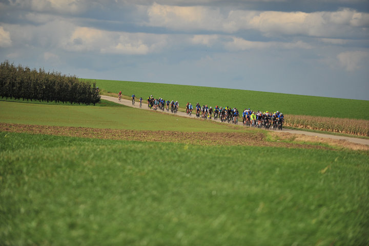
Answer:
[[[118, 94], [118, 100], [120, 101], [121, 98], [121, 91], [119, 91]], [[154, 98], [153, 95], [148, 97], [148, 108], [153, 110], [161, 110], [164, 111], [167, 109], [176, 114], [178, 111], [178, 101], [169, 101], [165, 100], [161, 97]], [[142, 106], [142, 97], [139, 98], [140, 102], [140, 108]], [[135, 95], [132, 95], [132, 105], [135, 103]], [[166, 107], [167, 106], [167, 107]], [[192, 115], [192, 111], [194, 110], [192, 104], [187, 103], [186, 105], [186, 113], [188, 115]], [[214, 109], [212, 107], [208, 107], [208, 105], [200, 106], [199, 103], [195, 106], [195, 112], [197, 118], [204, 118], [204, 119], [220, 119], [221, 122], [232, 122], [233, 124], [238, 123], [238, 119], [240, 117], [240, 113], [238, 109], [231, 108], [231, 107], [218, 107], [215, 106]], [[270, 113], [269, 111], [261, 112], [261, 111], [252, 111], [251, 109], [244, 109], [242, 111], [242, 124], [244, 126], [252, 126], [252, 127], [265, 127], [266, 129], [269, 129], [272, 127], [272, 129], [279, 129], [282, 130], [284, 122], [284, 115], [276, 111], [274, 113]]]

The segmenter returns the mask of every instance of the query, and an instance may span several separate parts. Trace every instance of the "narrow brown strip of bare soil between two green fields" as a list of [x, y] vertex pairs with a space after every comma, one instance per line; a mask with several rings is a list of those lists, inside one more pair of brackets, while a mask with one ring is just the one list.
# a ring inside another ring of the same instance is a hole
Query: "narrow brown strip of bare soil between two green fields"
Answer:
[[[117, 129], [96, 129], [83, 127], [56, 127], [38, 125], [20, 125], [0, 123], [0, 131], [30, 134], [47, 134], [57, 136], [178, 142], [193, 145], [227, 145], [227, 146], [267, 146], [283, 148], [333, 149], [330, 146], [349, 148], [354, 150], [369, 150], [369, 146], [348, 144], [346, 141], [322, 139], [290, 133], [270, 133], [268, 138], [264, 133], [210, 133], [210, 132], [174, 132], [174, 131], [135, 131]], [[270, 140], [272, 139], [272, 140]], [[324, 145], [314, 145], [323, 143]]]

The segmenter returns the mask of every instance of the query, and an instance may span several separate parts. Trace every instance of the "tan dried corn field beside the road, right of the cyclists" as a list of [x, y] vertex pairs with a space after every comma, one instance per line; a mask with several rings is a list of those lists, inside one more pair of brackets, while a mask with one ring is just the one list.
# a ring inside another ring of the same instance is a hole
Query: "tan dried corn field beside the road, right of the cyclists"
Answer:
[[284, 125], [288, 127], [369, 136], [369, 120], [365, 119], [286, 115]]

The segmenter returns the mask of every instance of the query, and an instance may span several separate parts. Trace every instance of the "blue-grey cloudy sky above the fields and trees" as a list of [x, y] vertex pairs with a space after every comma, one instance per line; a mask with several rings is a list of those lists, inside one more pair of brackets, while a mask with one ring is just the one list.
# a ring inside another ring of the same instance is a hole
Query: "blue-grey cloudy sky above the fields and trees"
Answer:
[[369, 0], [0, 0], [5, 60], [80, 78], [369, 100]]

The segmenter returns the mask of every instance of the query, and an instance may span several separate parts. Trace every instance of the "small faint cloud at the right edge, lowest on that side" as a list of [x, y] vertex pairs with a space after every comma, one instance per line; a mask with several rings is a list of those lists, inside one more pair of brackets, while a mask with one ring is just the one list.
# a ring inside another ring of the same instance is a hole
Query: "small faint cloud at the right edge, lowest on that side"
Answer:
[[341, 67], [351, 72], [359, 70], [363, 65], [366, 66], [367, 61], [366, 63], [362, 63], [362, 61], [368, 57], [369, 52], [367, 51], [347, 51], [337, 55]]

